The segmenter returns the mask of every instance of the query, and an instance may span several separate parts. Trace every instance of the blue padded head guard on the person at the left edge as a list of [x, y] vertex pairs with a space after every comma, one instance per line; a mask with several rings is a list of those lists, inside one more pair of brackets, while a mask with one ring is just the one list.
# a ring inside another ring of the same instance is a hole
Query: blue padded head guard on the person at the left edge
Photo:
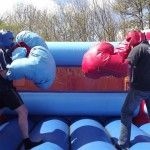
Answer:
[[14, 35], [11, 31], [0, 31], [0, 47], [1, 48], [11, 48], [14, 45]]

